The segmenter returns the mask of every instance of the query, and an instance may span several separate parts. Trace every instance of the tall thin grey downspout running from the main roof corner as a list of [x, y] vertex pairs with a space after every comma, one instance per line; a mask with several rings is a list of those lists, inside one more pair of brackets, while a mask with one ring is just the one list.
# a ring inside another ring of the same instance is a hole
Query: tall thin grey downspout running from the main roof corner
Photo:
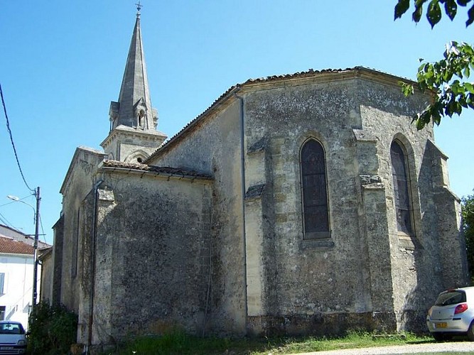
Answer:
[[242, 183], [242, 244], [244, 249], [244, 312], [245, 312], [245, 333], [247, 334], [248, 326], [248, 305], [247, 305], [247, 240], [245, 234], [245, 120], [244, 120], [244, 98], [237, 95], [240, 87], [237, 87], [237, 91], [234, 92], [234, 96], [239, 100], [239, 113], [240, 113], [240, 179]]

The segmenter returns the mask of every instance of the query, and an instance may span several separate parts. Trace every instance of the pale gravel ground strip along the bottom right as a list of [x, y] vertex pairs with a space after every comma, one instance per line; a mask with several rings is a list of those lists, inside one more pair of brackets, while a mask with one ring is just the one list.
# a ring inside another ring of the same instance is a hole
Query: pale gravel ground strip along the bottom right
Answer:
[[317, 351], [312, 353], [301, 353], [296, 355], [377, 355], [377, 354], [433, 354], [438, 352], [464, 352], [474, 354], [474, 342], [446, 342], [432, 344], [412, 344], [397, 346], [380, 346], [376, 348], [346, 349], [332, 351]]

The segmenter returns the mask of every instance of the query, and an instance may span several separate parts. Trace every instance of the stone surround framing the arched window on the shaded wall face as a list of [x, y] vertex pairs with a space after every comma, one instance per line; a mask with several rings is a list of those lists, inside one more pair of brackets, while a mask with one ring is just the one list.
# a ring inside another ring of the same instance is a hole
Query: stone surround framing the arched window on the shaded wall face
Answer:
[[[328, 218], [328, 231], [320, 232], [306, 232], [305, 226], [305, 206], [304, 206], [304, 190], [303, 190], [303, 162], [302, 162], [302, 151], [303, 147], [310, 141], [315, 141], [318, 143], [323, 150], [323, 160], [324, 160], [324, 169], [325, 169], [325, 189], [326, 189], [326, 210]], [[328, 160], [327, 160], [327, 150], [325, 144], [319, 138], [315, 136], [309, 136], [300, 144], [299, 146], [299, 157], [298, 157], [298, 170], [300, 175], [300, 195], [301, 195], [301, 224], [303, 229], [303, 240], [305, 241], [324, 241], [328, 240], [331, 237], [331, 224], [330, 224], [330, 197], [329, 197], [329, 188], [328, 188]]]

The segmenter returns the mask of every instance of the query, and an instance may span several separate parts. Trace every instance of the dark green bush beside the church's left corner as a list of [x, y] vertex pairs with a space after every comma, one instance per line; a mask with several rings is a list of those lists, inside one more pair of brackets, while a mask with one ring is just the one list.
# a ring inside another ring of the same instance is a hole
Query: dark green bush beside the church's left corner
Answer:
[[64, 306], [38, 303], [28, 319], [28, 351], [31, 354], [69, 354], [75, 344], [77, 315]]

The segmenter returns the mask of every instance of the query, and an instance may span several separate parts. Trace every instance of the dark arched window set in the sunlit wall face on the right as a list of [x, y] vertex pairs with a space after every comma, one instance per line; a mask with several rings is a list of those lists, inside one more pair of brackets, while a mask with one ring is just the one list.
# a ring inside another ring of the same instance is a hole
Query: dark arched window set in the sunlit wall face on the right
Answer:
[[390, 146], [392, 176], [394, 180], [394, 202], [399, 233], [413, 236], [412, 209], [409, 191], [409, 170], [402, 145], [393, 141]]

